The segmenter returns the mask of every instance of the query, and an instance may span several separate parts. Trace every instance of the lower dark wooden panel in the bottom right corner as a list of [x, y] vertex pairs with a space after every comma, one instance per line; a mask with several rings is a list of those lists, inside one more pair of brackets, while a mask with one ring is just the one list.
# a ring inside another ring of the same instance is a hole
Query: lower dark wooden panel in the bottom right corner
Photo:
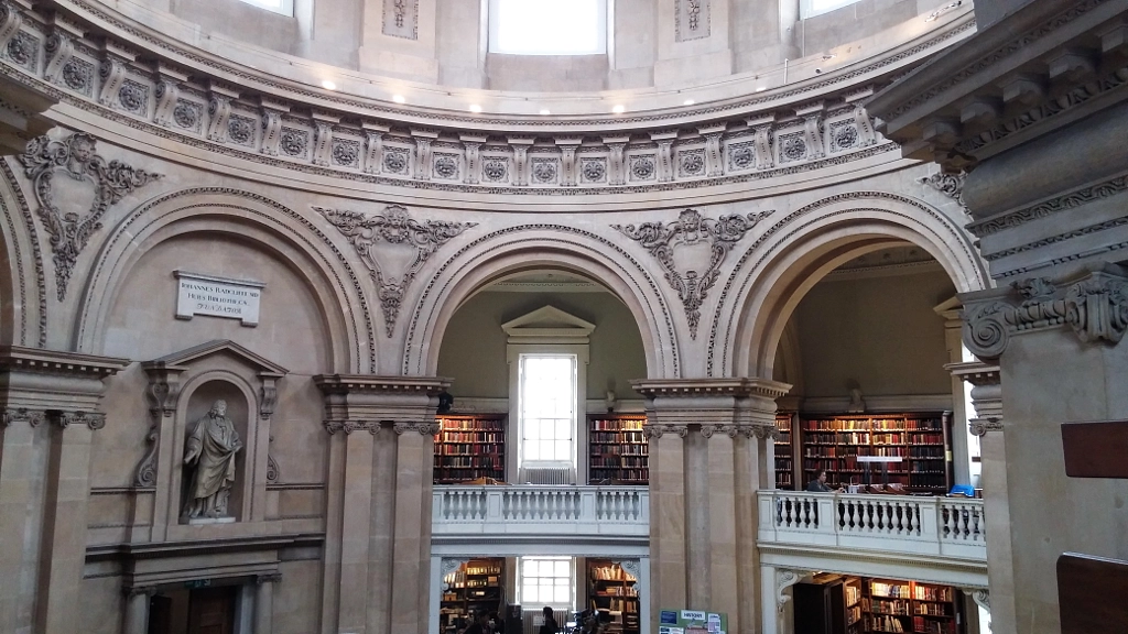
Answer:
[[1057, 569], [1061, 634], [1128, 632], [1128, 562], [1066, 553]]

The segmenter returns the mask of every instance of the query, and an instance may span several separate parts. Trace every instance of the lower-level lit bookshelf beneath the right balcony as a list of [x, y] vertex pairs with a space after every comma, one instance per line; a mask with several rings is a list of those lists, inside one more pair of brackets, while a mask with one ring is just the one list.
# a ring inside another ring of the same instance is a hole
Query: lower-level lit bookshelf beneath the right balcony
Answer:
[[863, 632], [960, 634], [955, 589], [916, 581], [864, 580]]

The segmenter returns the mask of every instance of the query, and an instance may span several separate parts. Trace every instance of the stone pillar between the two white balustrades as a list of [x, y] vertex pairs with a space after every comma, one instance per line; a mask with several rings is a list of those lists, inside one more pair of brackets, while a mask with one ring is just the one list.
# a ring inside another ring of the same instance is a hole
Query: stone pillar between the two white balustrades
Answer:
[[635, 389], [646, 397], [651, 438], [652, 605], [723, 611], [731, 632], [755, 632], [755, 497], [770, 486], [766, 446], [775, 399], [790, 386], [678, 379], [637, 381]]

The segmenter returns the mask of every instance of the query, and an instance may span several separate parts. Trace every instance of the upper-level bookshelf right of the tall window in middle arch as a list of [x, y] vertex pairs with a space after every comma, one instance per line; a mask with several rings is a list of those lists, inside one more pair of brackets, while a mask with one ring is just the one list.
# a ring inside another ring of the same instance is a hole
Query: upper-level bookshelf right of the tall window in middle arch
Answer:
[[589, 419], [588, 482], [650, 484], [650, 443], [644, 414], [600, 414]]

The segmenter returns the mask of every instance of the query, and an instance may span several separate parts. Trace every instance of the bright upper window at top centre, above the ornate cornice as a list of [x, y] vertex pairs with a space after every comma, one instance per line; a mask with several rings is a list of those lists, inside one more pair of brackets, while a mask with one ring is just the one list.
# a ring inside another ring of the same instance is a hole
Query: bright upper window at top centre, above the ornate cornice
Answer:
[[490, 51], [512, 55], [607, 52], [607, 0], [490, 0]]

